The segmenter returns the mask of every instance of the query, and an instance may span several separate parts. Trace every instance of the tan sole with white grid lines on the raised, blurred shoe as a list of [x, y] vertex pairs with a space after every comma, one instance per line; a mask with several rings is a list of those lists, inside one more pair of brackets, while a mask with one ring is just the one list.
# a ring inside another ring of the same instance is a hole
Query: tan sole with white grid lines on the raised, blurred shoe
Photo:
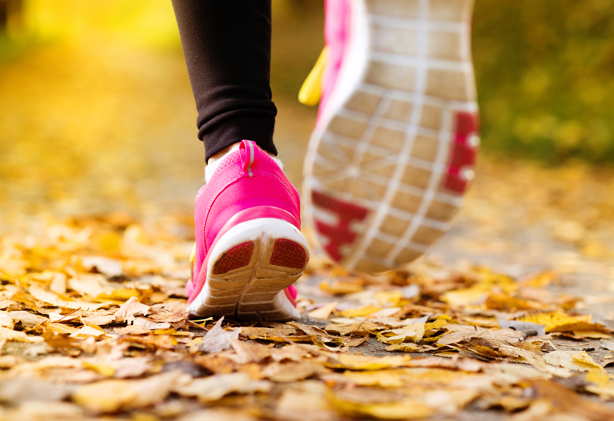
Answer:
[[411, 262], [449, 229], [480, 138], [471, 0], [352, 1], [348, 53], [305, 159], [305, 220], [348, 269]]

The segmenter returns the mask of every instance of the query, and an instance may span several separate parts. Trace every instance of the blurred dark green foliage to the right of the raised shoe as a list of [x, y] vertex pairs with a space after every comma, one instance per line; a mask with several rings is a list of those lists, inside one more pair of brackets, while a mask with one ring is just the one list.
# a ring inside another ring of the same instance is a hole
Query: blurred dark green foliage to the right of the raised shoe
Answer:
[[614, 162], [614, 1], [478, 0], [473, 58], [486, 151]]

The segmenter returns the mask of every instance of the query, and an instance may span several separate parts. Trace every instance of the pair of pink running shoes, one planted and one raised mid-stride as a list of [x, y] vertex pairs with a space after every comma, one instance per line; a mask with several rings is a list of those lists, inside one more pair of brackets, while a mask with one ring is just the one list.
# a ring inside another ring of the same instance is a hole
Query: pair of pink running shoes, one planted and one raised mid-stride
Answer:
[[[319, 102], [303, 210], [327, 255], [383, 272], [449, 228], [480, 141], [473, 0], [327, 0], [326, 46], [299, 99]], [[249, 140], [206, 169], [195, 201], [188, 315], [300, 317], [309, 261], [301, 204], [281, 162]]]

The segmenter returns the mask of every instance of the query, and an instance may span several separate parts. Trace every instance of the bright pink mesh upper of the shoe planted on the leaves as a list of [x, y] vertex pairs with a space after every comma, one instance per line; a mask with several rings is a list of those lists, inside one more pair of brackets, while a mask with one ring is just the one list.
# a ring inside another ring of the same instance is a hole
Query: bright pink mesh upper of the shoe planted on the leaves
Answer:
[[[259, 205], [270, 205], [289, 211], [300, 222], [300, 199], [297, 190], [266, 152], [260, 151], [255, 142], [251, 142], [251, 148], [246, 148], [249, 146], [247, 142], [251, 141], [242, 141], [241, 148], [223, 158], [209, 183], [201, 187], [196, 195], [196, 259], [193, 283], [198, 280], [208, 248], [214, 242], [219, 228], [239, 211], [231, 210], [229, 213], [224, 212], [225, 210], [235, 205], [249, 206], [257, 202]], [[254, 159], [249, 165], [251, 157]]]

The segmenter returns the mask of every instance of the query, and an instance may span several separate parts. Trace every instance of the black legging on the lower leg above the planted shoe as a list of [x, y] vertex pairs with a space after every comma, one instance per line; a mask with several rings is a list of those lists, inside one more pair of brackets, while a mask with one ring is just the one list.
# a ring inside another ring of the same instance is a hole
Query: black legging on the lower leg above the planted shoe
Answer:
[[206, 157], [243, 139], [273, 154], [271, 0], [173, 0]]

